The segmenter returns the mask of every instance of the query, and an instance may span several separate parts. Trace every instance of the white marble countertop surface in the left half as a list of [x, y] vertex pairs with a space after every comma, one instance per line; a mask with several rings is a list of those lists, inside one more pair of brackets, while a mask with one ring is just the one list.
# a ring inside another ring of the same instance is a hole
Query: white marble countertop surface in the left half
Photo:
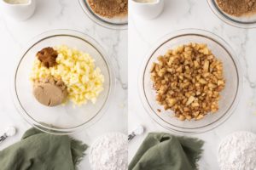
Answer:
[[[73, 137], [91, 144], [99, 135], [107, 132], [127, 132], [127, 31], [113, 31], [96, 25], [91, 21], [79, 5], [79, 1], [70, 0], [37, 0], [38, 5], [31, 19], [16, 22], [9, 20], [0, 11], [0, 133], [9, 125], [18, 128], [15, 137], [6, 139], [0, 144], [0, 150], [17, 142], [30, 127], [15, 110], [10, 94], [11, 72], [15, 62], [20, 58], [21, 48], [33, 37], [51, 29], [72, 29], [82, 31], [94, 37], [102, 44], [116, 66], [116, 89], [114, 101], [108, 112], [99, 122]], [[90, 169], [88, 156], [80, 163], [80, 169]]]

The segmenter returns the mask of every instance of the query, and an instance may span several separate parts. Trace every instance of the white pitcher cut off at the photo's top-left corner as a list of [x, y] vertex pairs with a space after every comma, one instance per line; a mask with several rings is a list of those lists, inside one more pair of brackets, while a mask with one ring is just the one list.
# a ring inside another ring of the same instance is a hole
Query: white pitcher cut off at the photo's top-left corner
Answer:
[[0, 0], [0, 8], [3, 14], [15, 20], [27, 20], [35, 11], [36, 0], [28, 0], [27, 3], [8, 3], [6, 0]]

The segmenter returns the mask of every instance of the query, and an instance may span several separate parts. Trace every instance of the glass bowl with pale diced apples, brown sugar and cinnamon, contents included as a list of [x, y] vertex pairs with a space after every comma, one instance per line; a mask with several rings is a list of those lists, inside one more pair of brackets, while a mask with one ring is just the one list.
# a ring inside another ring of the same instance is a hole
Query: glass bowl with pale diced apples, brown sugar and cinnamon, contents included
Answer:
[[20, 55], [12, 94], [32, 126], [66, 134], [99, 120], [114, 86], [111, 60], [98, 42], [78, 31], [53, 30]]

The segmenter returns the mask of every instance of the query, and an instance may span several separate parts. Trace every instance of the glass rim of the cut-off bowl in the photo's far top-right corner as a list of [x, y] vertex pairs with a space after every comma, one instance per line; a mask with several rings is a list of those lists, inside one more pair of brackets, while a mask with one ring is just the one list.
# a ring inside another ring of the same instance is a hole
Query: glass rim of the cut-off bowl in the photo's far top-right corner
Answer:
[[234, 20], [230, 18], [227, 14], [224, 14], [222, 10], [218, 8], [218, 4], [215, 3], [215, 0], [207, 0], [208, 5], [212, 9], [212, 12], [218, 16], [220, 20], [223, 20], [225, 23], [229, 24], [230, 26], [236, 26], [238, 28], [243, 29], [251, 29], [256, 28], [256, 21], [254, 22], [241, 22], [239, 20]]

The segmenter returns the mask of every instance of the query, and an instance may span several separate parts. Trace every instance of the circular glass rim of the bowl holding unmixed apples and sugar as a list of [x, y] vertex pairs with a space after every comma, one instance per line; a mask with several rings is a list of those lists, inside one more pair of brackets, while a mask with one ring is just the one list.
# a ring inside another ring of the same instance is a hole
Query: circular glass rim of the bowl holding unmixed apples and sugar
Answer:
[[[28, 113], [24, 110], [22, 105], [20, 104], [20, 100], [18, 99], [17, 91], [16, 91], [16, 74], [17, 71], [19, 70], [20, 63], [22, 59], [24, 59], [26, 53], [33, 48], [36, 44], [39, 42], [44, 41], [45, 39], [48, 39], [50, 37], [58, 37], [58, 36], [67, 36], [67, 37], [75, 37], [79, 38], [80, 40], [89, 43], [93, 48], [96, 49], [96, 51], [101, 54], [102, 59], [106, 63], [108, 67], [108, 74], [109, 74], [109, 89], [108, 89], [108, 96], [105, 99], [101, 109], [97, 111], [96, 115], [90, 118], [89, 121], [84, 122], [78, 126], [74, 127], [54, 127], [54, 126], [46, 126], [44, 125], [44, 122], [38, 122], [31, 116], [29, 116]], [[85, 127], [90, 127], [92, 124], [98, 122], [104, 113], [108, 111], [108, 106], [112, 103], [113, 101], [113, 94], [115, 90], [115, 83], [116, 79], [114, 76], [114, 71], [113, 71], [113, 63], [112, 60], [108, 57], [108, 54], [106, 54], [104, 48], [96, 42], [96, 40], [92, 37], [90, 37], [87, 34], [84, 34], [83, 32], [80, 31], [75, 31], [75, 30], [68, 30], [68, 29], [55, 29], [55, 30], [49, 30], [49, 31], [44, 31], [43, 33], [39, 34], [36, 37], [33, 37], [30, 42], [28, 42], [28, 45], [24, 47], [21, 50], [21, 53], [19, 54], [19, 59], [16, 60], [15, 68], [13, 70], [13, 77], [11, 80], [11, 94], [12, 94], [12, 99], [13, 103], [15, 105], [16, 111], [20, 113], [20, 116], [23, 117], [23, 119], [31, 124], [33, 127], [38, 128], [39, 130], [45, 132], [45, 133], [53, 133], [53, 134], [69, 134], [69, 133], [75, 133], [79, 130], [84, 129]]]

